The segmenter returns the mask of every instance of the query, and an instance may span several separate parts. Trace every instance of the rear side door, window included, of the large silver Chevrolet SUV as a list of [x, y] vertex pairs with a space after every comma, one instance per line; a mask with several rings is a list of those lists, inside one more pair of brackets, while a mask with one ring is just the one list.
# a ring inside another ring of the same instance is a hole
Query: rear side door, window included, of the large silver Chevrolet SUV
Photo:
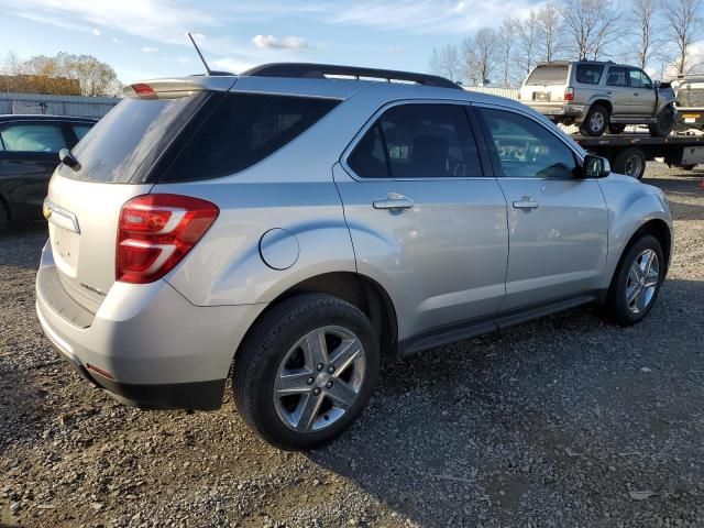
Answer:
[[504, 299], [506, 201], [475, 135], [463, 105], [394, 103], [336, 166], [358, 268], [396, 300], [400, 339]]

